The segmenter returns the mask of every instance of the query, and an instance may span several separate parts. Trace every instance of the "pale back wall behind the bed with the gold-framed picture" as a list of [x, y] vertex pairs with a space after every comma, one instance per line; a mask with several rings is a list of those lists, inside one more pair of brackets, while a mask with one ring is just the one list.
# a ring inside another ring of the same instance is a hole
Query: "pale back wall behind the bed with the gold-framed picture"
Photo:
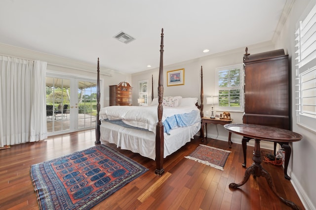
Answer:
[[[246, 46], [245, 46], [246, 47]], [[209, 112], [210, 116], [211, 105], [206, 105], [206, 97], [211, 95], [216, 95], [216, 68], [231, 66], [242, 63], [242, 56], [245, 53], [245, 47], [230, 50], [227, 52], [208, 55], [205, 57], [197, 58], [190, 61], [185, 61], [178, 64], [173, 64], [169, 66], [164, 66], [163, 73], [163, 84], [164, 84], [164, 96], [182, 96], [182, 97], [197, 97], [200, 99], [200, 75], [201, 66], [203, 67], [203, 92], [204, 92], [204, 116], [206, 116], [206, 111]], [[249, 45], [248, 53], [255, 54], [274, 50], [275, 46], [272, 42], [264, 42], [256, 45]], [[164, 52], [164, 57], [170, 56], [167, 52]], [[159, 60], [159, 57], [157, 57]], [[185, 84], [178, 86], [167, 86], [166, 73], [169, 70], [185, 69]], [[132, 74], [132, 86], [136, 87], [133, 91], [133, 102], [137, 102], [138, 97], [138, 81], [143, 79], [148, 79], [150, 84], [152, 81], [152, 75], [154, 75], [154, 97], [158, 97], [158, 73], [159, 69], [153, 69], [143, 72], [138, 72]], [[151, 94], [151, 87], [149, 93]], [[151, 95], [149, 95], [149, 98]], [[200, 104], [200, 100], [198, 101]], [[137, 105], [137, 103], [133, 104]], [[214, 109], [216, 110], [216, 106]], [[226, 110], [217, 110], [217, 113], [222, 113]], [[242, 123], [243, 112], [233, 112], [230, 111], [231, 118], [234, 119], [233, 123]], [[218, 131], [218, 133], [217, 133]], [[208, 125], [207, 126], [208, 138], [216, 138], [219, 140], [228, 140], [228, 132], [221, 125]], [[241, 143], [242, 137], [236, 134], [232, 135], [232, 140], [235, 143]], [[249, 145], [254, 145], [253, 140], [250, 140]], [[273, 149], [273, 144], [271, 142], [262, 141], [261, 146], [263, 148]]]

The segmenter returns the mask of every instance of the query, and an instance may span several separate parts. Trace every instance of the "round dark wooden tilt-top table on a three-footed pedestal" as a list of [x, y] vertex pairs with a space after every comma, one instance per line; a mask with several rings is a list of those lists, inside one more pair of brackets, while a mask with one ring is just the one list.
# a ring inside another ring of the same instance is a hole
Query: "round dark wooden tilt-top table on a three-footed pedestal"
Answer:
[[261, 166], [261, 155], [260, 155], [260, 140], [268, 140], [268, 141], [277, 141], [277, 142], [293, 142], [293, 141], [299, 141], [303, 137], [302, 135], [280, 129], [280, 128], [274, 128], [270, 126], [262, 126], [262, 125], [252, 125], [252, 124], [226, 124], [224, 125], [224, 128], [228, 130], [229, 132], [249, 137], [255, 140], [255, 148], [253, 151], [253, 163], [252, 165], [246, 169], [245, 175], [243, 176], [243, 179], [239, 183], [230, 183], [230, 188], [237, 188], [244, 183], [247, 182], [250, 175], [254, 176], [263, 176], [266, 178], [269, 187], [274, 192], [274, 194], [286, 205], [290, 206], [292, 209], [298, 210], [299, 208], [294, 204], [292, 201], [288, 201], [282, 197], [280, 197], [276, 193], [276, 189], [273, 185], [272, 177], [271, 175], [262, 168]]

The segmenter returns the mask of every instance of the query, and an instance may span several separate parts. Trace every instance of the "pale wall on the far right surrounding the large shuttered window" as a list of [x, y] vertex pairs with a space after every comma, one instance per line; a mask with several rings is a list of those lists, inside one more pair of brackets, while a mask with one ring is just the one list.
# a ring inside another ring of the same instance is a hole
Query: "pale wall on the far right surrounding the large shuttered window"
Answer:
[[[276, 46], [284, 48], [289, 54], [292, 91], [291, 97], [295, 99], [295, 27], [300, 18], [310, 11], [316, 0], [296, 0], [292, 6], [284, 28], [276, 39]], [[307, 10], [306, 10], [307, 9]], [[295, 100], [292, 100], [292, 128], [293, 131], [303, 136], [303, 139], [292, 144], [292, 154], [289, 163], [291, 182], [299, 194], [306, 209], [316, 209], [316, 132], [312, 132], [296, 124]], [[316, 122], [316, 120], [315, 120]]]

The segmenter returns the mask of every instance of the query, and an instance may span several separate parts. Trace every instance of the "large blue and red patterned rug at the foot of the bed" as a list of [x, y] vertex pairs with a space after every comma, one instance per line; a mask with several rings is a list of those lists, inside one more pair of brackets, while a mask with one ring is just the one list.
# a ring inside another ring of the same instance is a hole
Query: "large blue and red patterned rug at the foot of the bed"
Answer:
[[105, 145], [31, 166], [41, 210], [87, 210], [148, 169]]

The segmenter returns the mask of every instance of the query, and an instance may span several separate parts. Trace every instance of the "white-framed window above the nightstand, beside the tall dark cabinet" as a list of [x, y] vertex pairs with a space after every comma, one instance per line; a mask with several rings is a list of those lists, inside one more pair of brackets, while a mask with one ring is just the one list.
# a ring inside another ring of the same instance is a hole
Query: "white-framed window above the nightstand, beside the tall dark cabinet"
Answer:
[[216, 69], [219, 109], [243, 110], [242, 64]]

